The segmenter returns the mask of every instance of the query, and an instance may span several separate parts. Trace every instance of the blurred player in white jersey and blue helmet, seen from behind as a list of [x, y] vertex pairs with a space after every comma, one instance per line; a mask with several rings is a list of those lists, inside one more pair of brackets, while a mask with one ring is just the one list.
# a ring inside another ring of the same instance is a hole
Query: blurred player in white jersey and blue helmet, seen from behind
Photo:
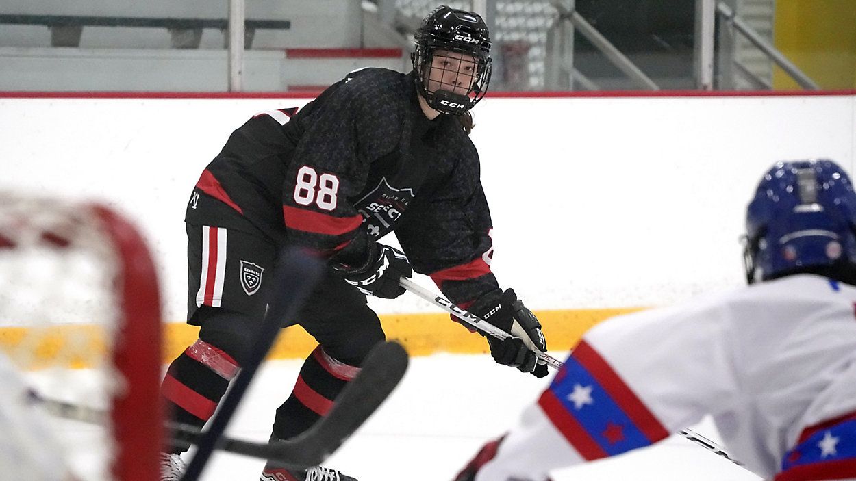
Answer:
[[856, 479], [856, 193], [830, 161], [777, 163], [746, 215], [750, 286], [612, 318], [456, 481], [543, 480], [710, 414], [776, 481]]

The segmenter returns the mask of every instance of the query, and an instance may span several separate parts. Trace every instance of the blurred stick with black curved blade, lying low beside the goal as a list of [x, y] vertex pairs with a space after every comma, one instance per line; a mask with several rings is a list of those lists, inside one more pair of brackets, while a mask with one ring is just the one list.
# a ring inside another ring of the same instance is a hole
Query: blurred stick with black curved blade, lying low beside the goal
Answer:
[[[372, 347], [360, 372], [348, 383], [324, 418], [302, 435], [279, 442], [252, 442], [221, 436], [217, 449], [273, 460], [289, 469], [306, 469], [321, 464], [377, 410], [407, 371], [407, 352], [396, 342]], [[106, 425], [109, 415], [101, 409], [66, 401], [46, 399], [31, 391], [29, 401], [45, 407], [51, 415], [96, 425]], [[203, 433], [197, 426], [168, 423], [171, 440], [181, 448], [199, 442]]]

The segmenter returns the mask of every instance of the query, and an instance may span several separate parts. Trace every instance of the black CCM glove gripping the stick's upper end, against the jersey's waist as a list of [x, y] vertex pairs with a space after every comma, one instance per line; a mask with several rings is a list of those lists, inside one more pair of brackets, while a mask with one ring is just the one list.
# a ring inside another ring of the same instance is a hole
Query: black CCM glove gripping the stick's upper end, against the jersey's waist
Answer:
[[404, 288], [398, 281], [401, 277], [413, 276], [413, 269], [404, 252], [383, 244], [375, 244], [372, 251], [377, 253], [372, 255], [364, 269], [344, 271], [345, 281], [363, 294], [383, 299], [395, 299], [404, 294]]

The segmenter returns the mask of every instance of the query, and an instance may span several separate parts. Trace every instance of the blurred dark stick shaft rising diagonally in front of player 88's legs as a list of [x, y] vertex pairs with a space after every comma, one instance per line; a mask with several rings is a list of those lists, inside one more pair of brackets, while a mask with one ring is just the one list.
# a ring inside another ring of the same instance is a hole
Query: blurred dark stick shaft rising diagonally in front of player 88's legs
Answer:
[[297, 248], [286, 249], [276, 259], [274, 283], [269, 291], [270, 299], [268, 300], [268, 312], [265, 315], [265, 320], [262, 321], [259, 330], [255, 333], [253, 347], [250, 349], [247, 358], [241, 360], [241, 371], [232, 381], [232, 385], [226, 395], [223, 396], [223, 400], [220, 401], [217, 413], [211, 419], [208, 430], [204, 431], [199, 438], [196, 454], [193, 455], [193, 459], [187, 465], [187, 471], [181, 477], [182, 481], [196, 481], [199, 478], [205, 464], [211, 458], [211, 452], [214, 450], [217, 441], [220, 436], [223, 436], [223, 431], [226, 431], [226, 425], [232, 419], [232, 414], [235, 413], [235, 409], [241, 402], [244, 393], [247, 392], [256, 371], [259, 370], [259, 365], [265, 360], [265, 356], [270, 351], [270, 346], [276, 340], [276, 334], [281, 329], [282, 324], [297, 313], [321, 275], [322, 265], [320, 261], [307, 257]]

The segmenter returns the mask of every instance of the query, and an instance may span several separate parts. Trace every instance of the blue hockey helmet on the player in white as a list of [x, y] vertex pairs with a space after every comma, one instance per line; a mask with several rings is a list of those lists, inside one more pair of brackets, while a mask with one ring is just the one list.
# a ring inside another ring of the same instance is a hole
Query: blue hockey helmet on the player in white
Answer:
[[856, 193], [844, 169], [830, 160], [776, 163], [746, 211], [746, 279], [835, 265], [856, 272], [854, 232]]

